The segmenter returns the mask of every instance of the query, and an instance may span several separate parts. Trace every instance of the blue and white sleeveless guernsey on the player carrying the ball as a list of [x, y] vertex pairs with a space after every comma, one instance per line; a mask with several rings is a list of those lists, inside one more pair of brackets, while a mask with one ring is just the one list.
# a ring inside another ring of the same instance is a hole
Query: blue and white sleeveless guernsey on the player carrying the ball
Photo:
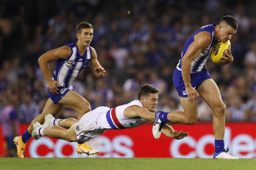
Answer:
[[185, 56], [189, 45], [191, 45], [192, 42], [194, 42], [194, 36], [201, 32], [201, 31], [207, 31], [210, 33], [211, 37], [212, 37], [212, 41], [210, 43], [210, 45], [206, 48], [203, 49], [199, 55], [196, 57], [196, 59], [193, 59], [191, 62], [191, 69], [190, 72], [198, 72], [198, 71], [202, 71], [205, 68], [206, 65], [206, 61], [210, 56], [210, 52], [213, 48], [213, 45], [218, 41], [218, 40], [214, 40], [214, 35], [215, 35], [215, 30], [214, 30], [214, 26], [216, 26], [215, 24], [211, 24], [211, 25], [206, 25], [203, 26], [202, 28], [200, 28], [199, 30], [197, 30], [196, 32], [194, 32], [194, 34], [192, 34], [187, 42], [184, 45], [184, 48], [182, 50], [181, 53], [181, 58], [179, 60], [179, 63], [177, 65], [177, 69], [181, 71], [181, 59], [183, 58], [183, 56]]

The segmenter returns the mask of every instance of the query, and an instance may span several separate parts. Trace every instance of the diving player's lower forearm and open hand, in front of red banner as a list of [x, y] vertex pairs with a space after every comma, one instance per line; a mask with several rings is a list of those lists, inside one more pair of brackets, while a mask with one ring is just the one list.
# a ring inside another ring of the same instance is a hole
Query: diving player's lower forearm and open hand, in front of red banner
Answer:
[[183, 139], [185, 137], [188, 136], [188, 132], [177, 132], [174, 131], [174, 129], [170, 126], [170, 125], [164, 125], [164, 127], [162, 128], [162, 132], [164, 133], [164, 135], [166, 135], [169, 138], [173, 138], [173, 139]]

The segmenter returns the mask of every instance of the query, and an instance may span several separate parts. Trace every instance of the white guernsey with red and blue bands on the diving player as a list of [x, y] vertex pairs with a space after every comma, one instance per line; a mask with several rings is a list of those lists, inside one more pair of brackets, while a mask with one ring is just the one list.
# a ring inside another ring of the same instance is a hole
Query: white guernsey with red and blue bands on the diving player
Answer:
[[143, 107], [139, 100], [132, 101], [128, 104], [117, 106], [107, 111], [106, 118], [112, 129], [135, 128], [146, 122], [143, 118], [126, 118], [124, 117], [124, 110], [132, 105]]

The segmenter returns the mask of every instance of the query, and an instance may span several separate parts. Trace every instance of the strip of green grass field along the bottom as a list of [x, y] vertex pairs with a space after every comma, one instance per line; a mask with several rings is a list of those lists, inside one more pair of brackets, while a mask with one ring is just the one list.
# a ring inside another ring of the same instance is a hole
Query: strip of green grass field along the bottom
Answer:
[[0, 170], [256, 170], [256, 159], [0, 158]]

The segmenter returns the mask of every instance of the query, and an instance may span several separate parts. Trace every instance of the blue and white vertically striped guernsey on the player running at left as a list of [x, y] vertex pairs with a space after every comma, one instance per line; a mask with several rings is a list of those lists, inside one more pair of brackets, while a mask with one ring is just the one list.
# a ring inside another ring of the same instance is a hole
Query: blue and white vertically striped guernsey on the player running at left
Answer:
[[88, 46], [84, 55], [81, 56], [76, 43], [69, 44], [68, 46], [71, 49], [71, 55], [68, 59], [57, 60], [56, 68], [53, 73], [53, 80], [57, 80], [61, 87], [72, 90], [75, 84], [75, 79], [91, 59], [92, 50], [91, 47]]

